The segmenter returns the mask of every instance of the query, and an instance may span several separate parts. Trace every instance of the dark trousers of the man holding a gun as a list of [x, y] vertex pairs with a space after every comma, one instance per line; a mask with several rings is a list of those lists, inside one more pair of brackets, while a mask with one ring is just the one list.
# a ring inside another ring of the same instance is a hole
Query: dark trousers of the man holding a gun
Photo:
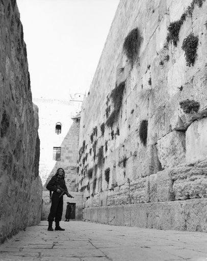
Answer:
[[63, 214], [63, 196], [59, 198], [58, 192], [53, 192], [48, 221], [61, 221]]

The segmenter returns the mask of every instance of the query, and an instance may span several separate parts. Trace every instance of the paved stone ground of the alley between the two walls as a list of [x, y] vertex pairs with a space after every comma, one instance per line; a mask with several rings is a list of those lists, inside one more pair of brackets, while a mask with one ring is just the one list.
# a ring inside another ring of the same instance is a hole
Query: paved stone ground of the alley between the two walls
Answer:
[[28, 227], [0, 246], [0, 261], [207, 260], [207, 233], [61, 222]]

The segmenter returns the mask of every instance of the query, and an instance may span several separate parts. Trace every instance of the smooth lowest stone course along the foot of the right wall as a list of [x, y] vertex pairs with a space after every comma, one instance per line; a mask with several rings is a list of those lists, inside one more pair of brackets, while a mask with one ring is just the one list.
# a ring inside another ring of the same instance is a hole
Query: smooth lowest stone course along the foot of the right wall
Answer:
[[207, 232], [207, 198], [84, 208], [85, 221]]

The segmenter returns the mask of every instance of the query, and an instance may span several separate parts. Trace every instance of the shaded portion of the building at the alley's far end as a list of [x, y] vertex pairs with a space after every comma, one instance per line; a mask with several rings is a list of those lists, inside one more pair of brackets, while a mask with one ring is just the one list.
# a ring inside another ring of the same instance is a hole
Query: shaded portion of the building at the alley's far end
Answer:
[[58, 168], [65, 170], [65, 182], [69, 193], [74, 198], [68, 198], [66, 195], [63, 197], [63, 216], [65, 218], [65, 211], [67, 202], [76, 203], [75, 208], [75, 219], [81, 220], [83, 217], [82, 206], [83, 206], [83, 193], [76, 192], [75, 181], [76, 181], [76, 164], [77, 164], [77, 150], [79, 144], [79, 131], [80, 131], [80, 117], [73, 118], [73, 123], [70, 126], [67, 135], [61, 143], [61, 160], [57, 161], [53, 170], [49, 174], [47, 181], [44, 185], [42, 194], [43, 205], [42, 205], [42, 220], [47, 220], [51, 203], [49, 202], [49, 191], [46, 189], [47, 182], [55, 175]]

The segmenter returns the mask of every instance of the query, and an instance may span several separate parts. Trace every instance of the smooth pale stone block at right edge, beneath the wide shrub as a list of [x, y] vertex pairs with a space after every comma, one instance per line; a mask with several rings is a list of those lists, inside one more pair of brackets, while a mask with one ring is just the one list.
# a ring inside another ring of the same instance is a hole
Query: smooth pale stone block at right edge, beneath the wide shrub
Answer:
[[207, 118], [196, 120], [186, 131], [186, 162], [207, 159]]

